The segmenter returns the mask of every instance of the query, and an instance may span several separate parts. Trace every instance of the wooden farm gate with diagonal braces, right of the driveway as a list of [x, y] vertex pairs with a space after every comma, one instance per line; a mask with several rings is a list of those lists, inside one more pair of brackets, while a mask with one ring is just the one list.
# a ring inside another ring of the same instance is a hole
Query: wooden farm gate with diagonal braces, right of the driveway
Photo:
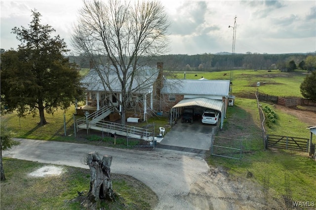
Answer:
[[308, 152], [309, 139], [277, 135], [267, 135], [267, 137], [268, 147]]

